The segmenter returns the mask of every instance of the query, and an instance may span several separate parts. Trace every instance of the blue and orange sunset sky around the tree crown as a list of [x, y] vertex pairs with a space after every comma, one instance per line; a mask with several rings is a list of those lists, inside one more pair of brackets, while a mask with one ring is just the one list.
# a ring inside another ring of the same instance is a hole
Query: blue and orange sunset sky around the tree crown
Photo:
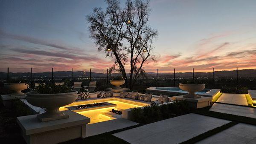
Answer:
[[[0, 71], [84, 70], [113, 64], [89, 37], [87, 14], [104, 0], [0, 0]], [[157, 62], [146, 72], [256, 69], [256, 0], [151, 0]], [[15, 68], [15, 69], [14, 69]]]

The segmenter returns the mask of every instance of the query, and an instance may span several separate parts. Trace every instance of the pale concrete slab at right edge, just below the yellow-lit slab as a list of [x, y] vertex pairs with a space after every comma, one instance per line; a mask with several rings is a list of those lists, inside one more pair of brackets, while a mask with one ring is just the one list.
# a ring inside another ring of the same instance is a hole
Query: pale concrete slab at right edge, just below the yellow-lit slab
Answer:
[[232, 115], [240, 115], [249, 118], [256, 118], [256, 108], [253, 107], [242, 107], [229, 104], [213, 104], [212, 108], [209, 109], [214, 112], [227, 113]]

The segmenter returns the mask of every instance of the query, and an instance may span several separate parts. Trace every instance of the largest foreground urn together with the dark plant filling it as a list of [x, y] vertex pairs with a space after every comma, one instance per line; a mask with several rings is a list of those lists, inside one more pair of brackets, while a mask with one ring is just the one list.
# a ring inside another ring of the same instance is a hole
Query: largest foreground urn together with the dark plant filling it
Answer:
[[52, 121], [68, 118], [64, 111], [59, 111], [59, 107], [71, 104], [76, 101], [77, 91], [73, 91], [65, 85], [39, 85], [35, 91], [26, 93], [26, 100], [36, 107], [45, 108], [46, 112], [38, 114], [40, 121]]

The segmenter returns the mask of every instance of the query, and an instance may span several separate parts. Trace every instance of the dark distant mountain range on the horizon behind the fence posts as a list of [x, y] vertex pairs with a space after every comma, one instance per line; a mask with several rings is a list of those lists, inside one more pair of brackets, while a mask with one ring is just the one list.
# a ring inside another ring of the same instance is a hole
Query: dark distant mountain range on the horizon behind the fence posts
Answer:
[[[58, 77], [71, 77], [71, 71], [59, 71], [59, 72], [53, 72], [53, 75], [55, 78]], [[97, 73], [97, 72], [91, 72], [92, 77], [100, 78], [100, 77], [106, 77], [106, 73]], [[113, 73], [111, 76], [117, 76], [120, 74]], [[150, 77], [156, 76], [156, 72], [146, 72], [146, 75]], [[199, 77], [212, 77], [212, 72], [195, 72], [195, 76]], [[256, 69], [242, 69], [238, 70], [239, 77], [256, 77]], [[84, 72], [84, 71], [77, 71], [73, 72], [73, 77], [89, 77], [90, 72]], [[171, 76], [173, 77], [173, 73], [158, 73], [158, 76], [165, 77], [165, 76]], [[176, 77], [192, 77], [192, 72], [177, 72], [175, 73]], [[236, 77], [236, 70], [233, 71], [215, 71], [215, 76], [217, 77]], [[6, 78], [7, 72], [0, 72], [0, 78]], [[17, 72], [17, 73], [9, 73], [9, 77], [30, 77], [30, 72]], [[42, 78], [51, 78], [52, 72], [35, 72], [32, 73], [32, 77], [42, 77]]]

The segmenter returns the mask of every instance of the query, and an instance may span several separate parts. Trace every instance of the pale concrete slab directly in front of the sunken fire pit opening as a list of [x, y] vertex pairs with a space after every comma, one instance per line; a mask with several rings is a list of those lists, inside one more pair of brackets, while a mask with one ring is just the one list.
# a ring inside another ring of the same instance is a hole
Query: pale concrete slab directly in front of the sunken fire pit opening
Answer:
[[117, 118], [110, 121], [103, 121], [95, 124], [88, 124], [86, 126], [86, 137], [111, 132], [113, 130], [122, 129], [137, 125], [134, 121], [129, 121], [124, 118]]

